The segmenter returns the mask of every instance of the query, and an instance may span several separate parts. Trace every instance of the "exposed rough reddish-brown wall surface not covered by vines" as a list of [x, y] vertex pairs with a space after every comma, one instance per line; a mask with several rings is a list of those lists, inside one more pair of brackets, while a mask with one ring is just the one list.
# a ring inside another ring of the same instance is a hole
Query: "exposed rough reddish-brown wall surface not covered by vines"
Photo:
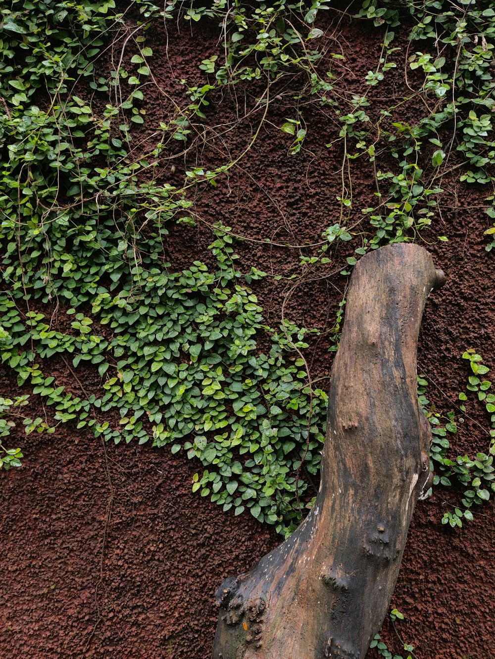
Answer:
[[[396, 57], [402, 70], [390, 71], [387, 80], [368, 90], [364, 75], [376, 66], [383, 31], [342, 14], [326, 20], [328, 47], [346, 58], [339, 74], [349, 93], [407, 96], [404, 39]], [[197, 66], [216, 52], [216, 28], [182, 26], [179, 33], [171, 24], [166, 38], [163, 26], [157, 26], [150, 45], [158, 87], [154, 100], [147, 103], [143, 145], [152, 127], [170, 111], [170, 98], [183, 100], [180, 79], [187, 78], [189, 84], [202, 79]], [[290, 136], [277, 129], [293, 109], [293, 94], [286, 91], [277, 90], [279, 99], [242, 168], [197, 199], [197, 212], [207, 221], [221, 219], [235, 233], [260, 241], [239, 247], [246, 268], [255, 264], [275, 274], [300, 272], [300, 250], [266, 246], [262, 241], [267, 237], [300, 245], [319, 241], [321, 232], [339, 219], [336, 196], [341, 192], [341, 146], [324, 146], [338, 133], [331, 118], [308, 108], [304, 150], [288, 156]], [[226, 127], [236, 101], [232, 96], [218, 107], [212, 105], [211, 125]], [[244, 102], [249, 109], [253, 98], [242, 96]], [[410, 122], [418, 112], [413, 101], [404, 103], [400, 111], [403, 121]], [[174, 172], [162, 163], [158, 179], [178, 184], [194, 161], [212, 166], [223, 161], [220, 152], [237, 156], [260, 119], [259, 113], [249, 115], [240, 130], [224, 132], [197, 153], [187, 154], [183, 167], [176, 166]], [[360, 208], [370, 204], [374, 181], [368, 171], [360, 171], [359, 161], [353, 177], [358, 221]], [[468, 372], [461, 354], [466, 348], [475, 347], [495, 368], [495, 301], [492, 256], [484, 250], [482, 235], [487, 228], [482, 205], [488, 192], [459, 185], [455, 172], [447, 175], [443, 186], [442, 216], [435, 218], [436, 228], [424, 233], [423, 244], [448, 279], [426, 306], [418, 360], [432, 381], [428, 397], [448, 411], [465, 387]], [[449, 242], [438, 243], [439, 234], [447, 235]], [[195, 258], [207, 260], [209, 242], [210, 233], [201, 223], [196, 229], [173, 229], [168, 246], [172, 266], [181, 267]], [[301, 252], [310, 253], [304, 248]], [[338, 270], [347, 253], [340, 256]], [[335, 263], [329, 266], [329, 272], [333, 270]], [[256, 293], [269, 322], [280, 319], [285, 301], [290, 320], [325, 329], [335, 316], [344, 285], [339, 275], [322, 277], [302, 283], [288, 298], [290, 286], [265, 279]], [[329, 376], [327, 347], [324, 335], [310, 347], [314, 377]], [[57, 378], [69, 382], [70, 374], [61, 368]], [[5, 371], [1, 388], [7, 394], [16, 388]], [[77, 391], [77, 383], [73, 388]], [[41, 404], [38, 414], [44, 414]], [[487, 427], [482, 407], [472, 405], [452, 442], [453, 451], [486, 450]], [[222, 577], [245, 571], [273, 548], [280, 540], [274, 530], [260, 527], [249, 515], [222, 513], [215, 504], [191, 494], [191, 478], [201, 465], [182, 453], [172, 457], [167, 449], [147, 445], [104, 447], [70, 426], [61, 426], [55, 436], [31, 435], [22, 446], [26, 455], [22, 469], [0, 474], [4, 501], [0, 560], [6, 566], [1, 656], [209, 657], [216, 587]], [[456, 502], [457, 493], [451, 488], [439, 489], [431, 500], [418, 504], [393, 596], [393, 606], [406, 617], [399, 633], [416, 647], [420, 659], [495, 657], [494, 505], [490, 501], [477, 509], [475, 521], [463, 529], [442, 527], [444, 510]], [[397, 654], [403, 653], [393, 631], [385, 630], [383, 635]]]

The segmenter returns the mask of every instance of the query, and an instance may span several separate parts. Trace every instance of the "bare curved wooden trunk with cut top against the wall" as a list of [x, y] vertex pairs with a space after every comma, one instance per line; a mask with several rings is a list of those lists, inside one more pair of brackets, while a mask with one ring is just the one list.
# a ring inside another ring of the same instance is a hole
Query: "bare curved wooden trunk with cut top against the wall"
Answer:
[[415, 244], [382, 247], [354, 267], [315, 505], [250, 572], [223, 581], [214, 659], [366, 654], [430, 477], [416, 347], [426, 299], [444, 280]]

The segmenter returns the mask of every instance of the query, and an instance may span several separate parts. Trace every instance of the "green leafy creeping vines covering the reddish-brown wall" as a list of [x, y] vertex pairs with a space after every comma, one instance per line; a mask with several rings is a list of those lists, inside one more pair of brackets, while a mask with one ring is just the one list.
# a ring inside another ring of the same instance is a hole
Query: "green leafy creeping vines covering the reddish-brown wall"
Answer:
[[[325, 0], [215, 0], [205, 7], [168, 0], [164, 8], [150, 0], [13, 0], [4, 7], [0, 353], [28, 393], [0, 399], [3, 442], [20, 422], [28, 434], [70, 423], [116, 444], [170, 445], [172, 453], [186, 451], [205, 467], [193, 482], [201, 496], [236, 514], [248, 509], [290, 533], [302, 518], [300, 497], [319, 470], [325, 435], [327, 395], [312, 382], [304, 356], [317, 332], [285, 318], [270, 326], [255, 287], [273, 275], [243, 268], [236, 244], [249, 237], [209, 223], [196, 212], [195, 198], [224, 185], [240, 166], [276, 91], [288, 82], [296, 90], [293, 113], [277, 128], [289, 156], [298, 158], [306, 148], [306, 105], [337, 122], [327, 146], [343, 149], [339, 222], [315, 237], [312, 256], [300, 257], [305, 276], [332, 263], [337, 249], [348, 254], [345, 268], [336, 271], [346, 277], [368, 250], [416, 239], [441, 216], [442, 181], [451, 175], [492, 192], [490, 5], [407, 0], [397, 7], [364, 0], [356, 20], [373, 22], [383, 39], [376, 69], [362, 81], [370, 95], [345, 94], [336, 72], [344, 56], [319, 45], [323, 13], [341, 11]], [[182, 80], [183, 103], [168, 98], [170, 115], [149, 126], [146, 101], [160, 92], [150, 28], [172, 22], [218, 25], [218, 51], [199, 65], [203, 84]], [[409, 35], [407, 69], [416, 81], [411, 99], [424, 106], [424, 116], [411, 125], [391, 121], [399, 101], [377, 109], [380, 101], [371, 94], [397, 68], [397, 28]], [[160, 163], [174, 167], [211, 130], [211, 100], [227, 88], [249, 86], [256, 92], [249, 113], [261, 121], [240, 156], [220, 154], [212, 169], [191, 165], [182, 185], [163, 183]], [[372, 110], [377, 121], [370, 119]], [[152, 133], [145, 152], [143, 128]], [[352, 219], [354, 161], [369, 167], [376, 183], [375, 202], [358, 221]], [[493, 202], [487, 193], [489, 219], [495, 218]], [[173, 271], [164, 254], [177, 223], [202, 223], [211, 232], [204, 261], [214, 267], [197, 260]], [[486, 230], [488, 237], [494, 233], [495, 224]], [[333, 349], [344, 305], [345, 299], [331, 332]], [[55, 310], [62, 323], [53, 321]], [[269, 345], [266, 354], [258, 348], [260, 337]], [[467, 354], [471, 367], [479, 364], [479, 355]], [[56, 382], [53, 364], [65, 364], [80, 395]], [[470, 386], [486, 393], [486, 409], [495, 411], [490, 383], [475, 382], [477, 368]], [[32, 395], [52, 417], [24, 415]], [[432, 460], [442, 471], [437, 479], [447, 485], [455, 475], [471, 488], [463, 509], [444, 518], [461, 525], [461, 517], [472, 517], [471, 504], [489, 497], [494, 444], [475, 459], [451, 460], [446, 437], [455, 432], [454, 418], [443, 428], [424, 404], [434, 427]], [[20, 449], [0, 447], [1, 466], [20, 465]]]

